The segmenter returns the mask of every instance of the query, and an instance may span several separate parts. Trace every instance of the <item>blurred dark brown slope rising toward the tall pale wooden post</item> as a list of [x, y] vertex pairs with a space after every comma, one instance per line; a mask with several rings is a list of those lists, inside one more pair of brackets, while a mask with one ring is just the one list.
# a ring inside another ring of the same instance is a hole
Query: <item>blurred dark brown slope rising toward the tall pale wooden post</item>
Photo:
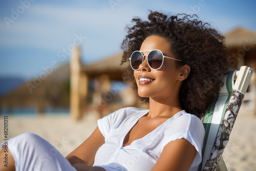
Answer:
[[39, 113], [44, 112], [46, 106], [68, 108], [69, 72], [69, 63], [66, 63], [49, 73], [44, 80], [40, 79], [39, 74], [37, 78], [2, 96], [0, 108], [35, 107]]

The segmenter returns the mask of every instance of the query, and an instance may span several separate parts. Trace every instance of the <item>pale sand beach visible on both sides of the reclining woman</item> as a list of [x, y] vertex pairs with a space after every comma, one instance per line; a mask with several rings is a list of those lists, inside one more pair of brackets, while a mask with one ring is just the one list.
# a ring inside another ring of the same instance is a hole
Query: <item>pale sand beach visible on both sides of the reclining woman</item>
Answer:
[[[3, 135], [1, 116], [1, 141]], [[88, 113], [80, 121], [74, 122], [69, 115], [10, 116], [8, 117], [8, 138], [31, 132], [45, 138], [59, 152], [66, 156], [81, 144], [97, 126], [94, 113]], [[256, 170], [256, 117], [239, 113], [225, 148], [223, 158], [228, 170]]]

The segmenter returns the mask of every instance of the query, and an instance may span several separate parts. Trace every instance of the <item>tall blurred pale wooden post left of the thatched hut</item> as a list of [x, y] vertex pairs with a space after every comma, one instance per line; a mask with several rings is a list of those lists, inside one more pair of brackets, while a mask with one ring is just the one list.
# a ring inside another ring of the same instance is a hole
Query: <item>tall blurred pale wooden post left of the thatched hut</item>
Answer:
[[79, 120], [82, 117], [80, 110], [81, 101], [79, 95], [80, 72], [80, 51], [79, 47], [75, 47], [70, 59], [70, 113], [73, 120]]

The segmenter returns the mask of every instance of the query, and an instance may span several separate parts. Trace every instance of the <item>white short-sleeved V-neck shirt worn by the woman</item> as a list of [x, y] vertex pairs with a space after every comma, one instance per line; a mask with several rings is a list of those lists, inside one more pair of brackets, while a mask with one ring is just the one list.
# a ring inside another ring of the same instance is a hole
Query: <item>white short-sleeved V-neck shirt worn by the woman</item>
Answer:
[[200, 119], [178, 112], [144, 137], [122, 146], [126, 134], [148, 110], [123, 108], [98, 120], [105, 143], [98, 149], [94, 166], [111, 170], [151, 170], [163, 148], [171, 141], [184, 138], [195, 146], [197, 154], [189, 170], [197, 170], [201, 163], [204, 127]]

